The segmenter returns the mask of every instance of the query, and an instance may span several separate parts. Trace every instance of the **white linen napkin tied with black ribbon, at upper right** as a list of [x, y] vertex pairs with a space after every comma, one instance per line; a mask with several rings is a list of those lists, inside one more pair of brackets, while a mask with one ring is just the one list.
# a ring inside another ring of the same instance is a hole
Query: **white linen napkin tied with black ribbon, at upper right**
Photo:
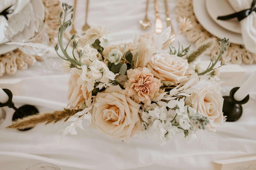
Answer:
[[[252, 5], [252, 0], [228, 0], [228, 2], [236, 12], [250, 9]], [[240, 25], [245, 48], [256, 53], [256, 12], [252, 11], [240, 21]]]

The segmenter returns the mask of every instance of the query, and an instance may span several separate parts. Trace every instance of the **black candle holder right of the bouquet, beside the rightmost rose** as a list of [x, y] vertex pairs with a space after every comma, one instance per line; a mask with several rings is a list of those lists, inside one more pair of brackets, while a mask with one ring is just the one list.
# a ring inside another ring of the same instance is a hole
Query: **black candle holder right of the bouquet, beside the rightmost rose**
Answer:
[[249, 100], [249, 95], [247, 95], [242, 101], [237, 101], [234, 98], [235, 92], [239, 89], [239, 87], [233, 88], [229, 96], [224, 96], [224, 103], [223, 103], [223, 115], [227, 116], [227, 122], [235, 122], [237, 121], [243, 113], [242, 104], [245, 104]]

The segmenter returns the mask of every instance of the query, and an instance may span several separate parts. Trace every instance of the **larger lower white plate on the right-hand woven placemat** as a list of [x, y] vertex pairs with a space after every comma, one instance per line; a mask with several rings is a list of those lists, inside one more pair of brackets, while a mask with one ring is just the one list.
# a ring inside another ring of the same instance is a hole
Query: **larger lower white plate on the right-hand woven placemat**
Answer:
[[218, 38], [229, 38], [229, 42], [243, 45], [242, 35], [228, 31], [216, 24], [206, 10], [205, 0], [193, 0], [193, 9], [198, 22], [209, 33]]

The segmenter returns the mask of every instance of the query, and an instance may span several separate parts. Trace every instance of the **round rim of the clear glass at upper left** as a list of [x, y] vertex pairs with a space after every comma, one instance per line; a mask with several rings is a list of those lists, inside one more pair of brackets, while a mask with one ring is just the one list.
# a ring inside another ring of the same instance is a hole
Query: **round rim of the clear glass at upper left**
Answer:
[[20, 15], [20, 14], [22, 14], [22, 13], [33, 13], [33, 14], [35, 15], [35, 17], [39, 18], [40, 21], [42, 22], [42, 27], [40, 28], [40, 31], [38, 31], [37, 35], [34, 36], [34, 37], [29, 38], [29, 39], [26, 40], [24, 43], [29, 42], [29, 41], [31, 41], [33, 38], [37, 37], [37, 36], [41, 33], [41, 31], [43, 30], [43, 28], [44, 28], [44, 20], [43, 20], [42, 16], [39, 15], [38, 13], [36, 13], [36, 12], [34, 12], [34, 11], [21, 11], [21, 12], [18, 12], [18, 13], [16, 13], [16, 14], [12, 15], [12, 16], [6, 21], [6, 23], [4, 24], [4, 36], [5, 36], [9, 41], [18, 42], [18, 41], [10, 40], [11, 38], [10, 38], [9, 36], [6, 36], [6, 33], [5, 33], [6, 28], [5, 28], [5, 27], [7, 26], [8, 21], [11, 20], [11, 18], [13, 18], [14, 16], [17, 16], [17, 15]]

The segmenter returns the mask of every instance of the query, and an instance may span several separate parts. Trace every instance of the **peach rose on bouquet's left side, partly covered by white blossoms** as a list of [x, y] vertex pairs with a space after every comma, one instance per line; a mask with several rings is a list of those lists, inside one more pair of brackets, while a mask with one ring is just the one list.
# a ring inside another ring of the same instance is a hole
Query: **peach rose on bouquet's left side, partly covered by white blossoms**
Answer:
[[68, 106], [71, 108], [84, 109], [91, 106], [92, 92], [88, 92], [87, 87], [79, 85], [78, 79], [82, 75], [82, 71], [76, 69], [68, 80]]

